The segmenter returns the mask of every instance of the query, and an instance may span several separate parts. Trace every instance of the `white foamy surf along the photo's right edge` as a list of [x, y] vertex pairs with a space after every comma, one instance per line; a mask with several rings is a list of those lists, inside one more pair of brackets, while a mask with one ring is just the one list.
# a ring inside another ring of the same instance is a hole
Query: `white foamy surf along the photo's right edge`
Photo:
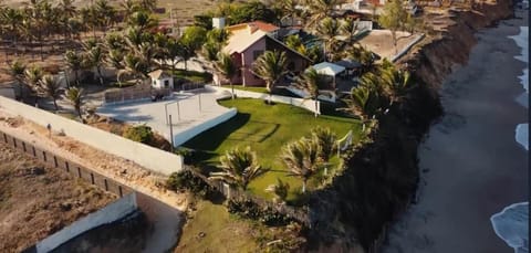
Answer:
[[[516, 101], [529, 109], [529, 27], [521, 27], [520, 34], [509, 36], [522, 49], [521, 55], [516, 59], [528, 63], [523, 74], [519, 76], [525, 89]], [[529, 123], [518, 124], [514, 139], [529, 151]], [[490, 218], [496, 234], [501, 238], [516, 253], [529, 252], [529, 202], [513, 203]]]

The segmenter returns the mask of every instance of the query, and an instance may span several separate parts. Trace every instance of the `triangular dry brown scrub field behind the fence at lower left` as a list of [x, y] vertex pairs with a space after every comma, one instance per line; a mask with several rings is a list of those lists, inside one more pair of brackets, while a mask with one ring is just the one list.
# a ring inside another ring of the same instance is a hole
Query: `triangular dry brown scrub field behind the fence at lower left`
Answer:
[[20, 252], [115, 199], [0, 145], [0, 252]]

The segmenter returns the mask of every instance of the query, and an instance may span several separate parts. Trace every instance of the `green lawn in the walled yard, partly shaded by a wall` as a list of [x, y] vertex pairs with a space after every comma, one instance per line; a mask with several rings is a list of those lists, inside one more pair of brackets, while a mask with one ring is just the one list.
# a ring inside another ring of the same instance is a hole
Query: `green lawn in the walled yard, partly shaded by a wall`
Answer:
[[[277, 178], [288, 180], [290, 183], [289, 199], [293, 199], [294, 192], [300, 191], [301, 180], [287, 177], [288, 170], [279, 159], [283, 145], [310, 135], [310, 130], [316, 126], [329, 127], [339, 138], [350, 129], [354, 129], [354, 133], [358, 133], [360, 129], [355, 119], [327, 115], [315, 118], [309, 110], [285, 104], [266, 105], [263, 101], [251, 98], [227, 99], [219, 103], [226, 107], [238, 108], [238, 114], [183, 146], [201, 150], [202, 152], [195, 159], [205, 164], [217, 164], [219, 155], [226, 150], [250, 146], [257, 152], [259, 162], [271, 168], [268, 173], [249, 186], [250, 191], [264, 198], [272, 198], [264, 189], [277, 182]], [[357, 136], [354, 139], [356, 140]], [[332, 159], [332, 162], [336, 165], [339, 159]]]

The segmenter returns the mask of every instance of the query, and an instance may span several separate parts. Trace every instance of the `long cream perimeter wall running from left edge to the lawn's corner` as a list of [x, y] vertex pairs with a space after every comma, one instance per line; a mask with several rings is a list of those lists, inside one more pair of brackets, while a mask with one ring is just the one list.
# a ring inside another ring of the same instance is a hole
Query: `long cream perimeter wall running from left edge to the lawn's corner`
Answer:
[[13, 99], [0, 96], [0, 107], [41, 126], [51, 125], [52, 130], [62, 130], [81, 143], [100, 150], [129, 159], [146, 169], [170, 175], [183, 169], [183, 157], [136, 143], [121, 136], [74, 122]]

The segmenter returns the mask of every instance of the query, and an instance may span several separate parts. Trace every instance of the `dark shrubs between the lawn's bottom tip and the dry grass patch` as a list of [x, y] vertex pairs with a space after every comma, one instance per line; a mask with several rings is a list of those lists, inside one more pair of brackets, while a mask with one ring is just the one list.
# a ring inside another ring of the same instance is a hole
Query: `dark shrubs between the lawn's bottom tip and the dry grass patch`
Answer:
[[258, 220], [266, 225], [287, 225], [293, 221], [293, 219], [273, 210], [271, 207], [260, 207], [250, 199], [230, 199], [227, 201], [227, 209], [230, 213]]

